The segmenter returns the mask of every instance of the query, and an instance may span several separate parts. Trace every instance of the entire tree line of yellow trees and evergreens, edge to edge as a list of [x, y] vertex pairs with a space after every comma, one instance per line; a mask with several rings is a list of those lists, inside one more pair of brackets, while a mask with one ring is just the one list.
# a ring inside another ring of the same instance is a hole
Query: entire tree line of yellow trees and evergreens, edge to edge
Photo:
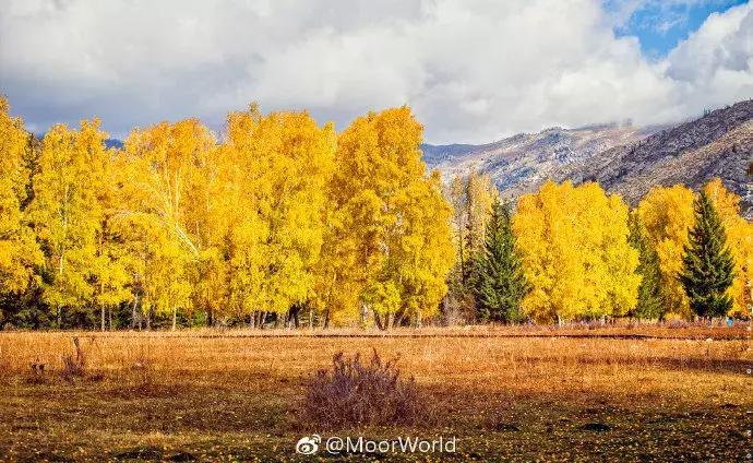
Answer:
[[475, 173], [443, 187], [421, 139], [408, 107], [337, 133], [252, 104], [220, 136], [187, 119], [108, 149], [96, 118], [38, 139], [0, 99], [0, 325], [750, 313], [753, 226], [719, 181], [633, 211], [597, 183], [512, 204]]

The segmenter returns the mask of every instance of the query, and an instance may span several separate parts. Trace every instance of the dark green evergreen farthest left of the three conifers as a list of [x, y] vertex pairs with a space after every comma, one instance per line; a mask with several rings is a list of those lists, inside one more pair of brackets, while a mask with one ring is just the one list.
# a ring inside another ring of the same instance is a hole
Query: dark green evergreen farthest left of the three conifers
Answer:
[[530, 290], [512, 230], [511, 210], [494, 201], [485, 242], [474, 265], [473, 288], [478, 318], [511, 322], [523, 318], [521, 302]]

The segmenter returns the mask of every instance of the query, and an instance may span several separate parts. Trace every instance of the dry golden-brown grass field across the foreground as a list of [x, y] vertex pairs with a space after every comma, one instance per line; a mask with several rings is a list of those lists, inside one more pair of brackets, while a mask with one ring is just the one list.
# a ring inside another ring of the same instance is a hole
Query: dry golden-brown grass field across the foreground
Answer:
[[[292, 333], [0, 333], [0, 455], [362, 460], [296, 455], [314, 432], [457, 438], [454, 454], [370, 455], [380, 460], [741, 461], [753, 450], [744, 327]], [[65, 379], [74, 336], [86, 367]], [[431, 418], [410, 428], [301, 422], [311, 376], [337, 352], [371, 349], [399, 356]]]

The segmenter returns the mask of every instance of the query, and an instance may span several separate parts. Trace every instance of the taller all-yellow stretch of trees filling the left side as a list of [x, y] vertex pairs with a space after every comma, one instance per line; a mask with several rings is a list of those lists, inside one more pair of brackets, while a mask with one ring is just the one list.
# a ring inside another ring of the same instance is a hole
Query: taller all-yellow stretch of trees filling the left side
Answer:
[[19, 327], [420, 323], [454, 261], [407, 107], [337, 134], [304, 111], [41, 140], [0, 106], [2, 321]]

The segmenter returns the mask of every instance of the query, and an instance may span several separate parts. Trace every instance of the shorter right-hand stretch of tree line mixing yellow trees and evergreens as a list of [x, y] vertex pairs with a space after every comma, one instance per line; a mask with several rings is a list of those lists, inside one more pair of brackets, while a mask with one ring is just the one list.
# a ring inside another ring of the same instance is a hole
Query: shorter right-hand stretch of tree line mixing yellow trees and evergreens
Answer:
[[737, 316], [753, 308], [753, 224], [719, 179], [656, 187], [631, 210], [596, 182], [548, 181], [512, 211], [488, 176], [447, 188], [454, 316], [541, 323]]

